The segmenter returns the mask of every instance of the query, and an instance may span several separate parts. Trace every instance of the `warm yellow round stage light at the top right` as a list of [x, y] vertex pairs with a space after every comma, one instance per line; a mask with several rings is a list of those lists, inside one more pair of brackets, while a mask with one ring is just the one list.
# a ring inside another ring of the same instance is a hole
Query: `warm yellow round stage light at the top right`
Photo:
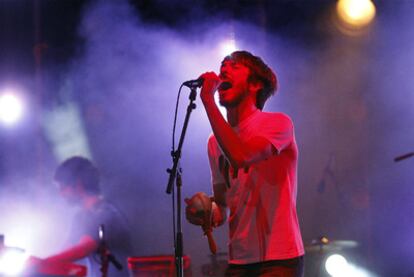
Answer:
[[336, 10], [339, 18], [354, 28], [365, 27], [375, 17], [375, 5], [371, 0], [339, 0]]

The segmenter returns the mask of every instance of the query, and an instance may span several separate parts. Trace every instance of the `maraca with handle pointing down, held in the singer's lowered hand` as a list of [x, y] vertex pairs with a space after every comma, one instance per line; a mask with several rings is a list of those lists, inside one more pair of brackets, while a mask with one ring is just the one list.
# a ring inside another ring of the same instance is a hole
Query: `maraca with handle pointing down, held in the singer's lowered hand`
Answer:
[[203, 229], [204, 235], [207, 236], [208, 246], [212, 254], [216, 254], [217, 246], [214, 241], [211, 226], [211, 210], [212, 200], [204, 192], [197, 192], [190, 199], [186, 198], [185, 203], [187, 204], [186, 214], [195, 216], [194, 220], [190, 223], [200, 225]]

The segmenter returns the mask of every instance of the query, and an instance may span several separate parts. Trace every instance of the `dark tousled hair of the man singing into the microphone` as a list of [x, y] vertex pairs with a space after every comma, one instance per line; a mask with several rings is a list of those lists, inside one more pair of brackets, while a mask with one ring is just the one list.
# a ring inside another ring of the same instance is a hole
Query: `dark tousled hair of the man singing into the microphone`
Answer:
[[257, 93], [256, 106], [263, 109], [266, 100], [274, 95], [278, 88], [278, 80], [270, 67], [260, 57], [254, 56], [248, 51], [235, 51], [223, 59], [243, 64], [250, 70], [249, 82], [260, 82], [262, 88]]

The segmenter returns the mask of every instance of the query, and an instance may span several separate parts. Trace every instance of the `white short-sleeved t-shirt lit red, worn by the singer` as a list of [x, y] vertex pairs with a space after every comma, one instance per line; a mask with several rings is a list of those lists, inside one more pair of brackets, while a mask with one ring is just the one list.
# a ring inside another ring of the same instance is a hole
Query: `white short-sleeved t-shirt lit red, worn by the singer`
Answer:
[[243, 141], [263, 137], [277, 151], [249, 168], [234, 170], [215, 137], [209, 138], [212, 183], [227, 186], [229, 263], [302, 256], [296, 213], [298, 149], [291, 119], [282, 113], [258, 110], [234, 130]]

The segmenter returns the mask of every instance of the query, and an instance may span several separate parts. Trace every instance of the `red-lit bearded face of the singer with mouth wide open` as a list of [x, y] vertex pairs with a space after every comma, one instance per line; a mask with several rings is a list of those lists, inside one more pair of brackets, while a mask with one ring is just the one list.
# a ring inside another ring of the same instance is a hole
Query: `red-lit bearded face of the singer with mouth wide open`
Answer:
[[223, 90], [219, 89], [220, 105], [224, 107], [235, 107], [250, 96], [249, 78], [250, 70], [241, 63], [232, 60], [225, 60], [220, 67], [220, 79], [229, 82], [231, 87]]

